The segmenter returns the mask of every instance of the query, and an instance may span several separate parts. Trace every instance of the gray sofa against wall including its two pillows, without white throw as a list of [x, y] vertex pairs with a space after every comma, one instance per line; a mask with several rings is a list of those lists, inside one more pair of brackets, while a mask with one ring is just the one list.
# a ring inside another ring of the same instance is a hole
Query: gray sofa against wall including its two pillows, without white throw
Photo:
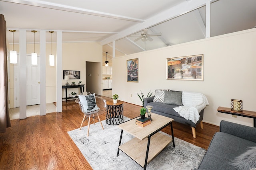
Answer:
[[[202, 123], [202, 120], [204, 118], [204, 109], [202, 109], [202, 111], [200, 111], [200, 113], [199, 113], [200, 118], [196, 123], [192, 122], [191, 120], [187, 120], [184, 117], [180, 116], [179, 113], [177, 113], [174, 110], [174, 107], [178, 107], [178, 106], [182, 105], [182, 98], [175, 98], [175, 100], [173, 102], [174, 104], [172, 104], [172, 102], [171, 103], [168, 102], [168, 104], [166, 104], [166, 100], [165, 100], [166, 96], [163, 94], [164, 92], [166, 92], [166, 90], [171, 91], [169, 89], [160, 90], [160, 92], [159, 92], [159, 90], [158, 91], [156, 90], [154, 96], [151, 96], [149, 98], [144, 98], [144, 107], [146, 108], [147, 105], [153, 106], [153, 108], [151, 110], [152, 113], [170, 117], [170, 118], [174, 119], [174, 121], [176, 121], [176, 122], [183, 123], [185, 125], [189, 125], [192, 129], [193, 137], [196, 138], [196, 126], [198, 124], [200, 124], [200, 127], [202, 129], [204, 128], [203, 123]], [[161, 94], [161, 91], [163, 91], [162, 94]], [[182, 94], [182, 92], [179, 92], [179, 91], [171, 91], [171, 92], [177, 92], [177, 93]], [[160, 93], [160, 94], [158, 95], [158, 93]], [[162, 99], [154, 102], [154, 98], [156, 99], [157, 95], [159, 98], [162, 97]], [[177, 102], [177, 100], [181, 100], [181, 101]]]

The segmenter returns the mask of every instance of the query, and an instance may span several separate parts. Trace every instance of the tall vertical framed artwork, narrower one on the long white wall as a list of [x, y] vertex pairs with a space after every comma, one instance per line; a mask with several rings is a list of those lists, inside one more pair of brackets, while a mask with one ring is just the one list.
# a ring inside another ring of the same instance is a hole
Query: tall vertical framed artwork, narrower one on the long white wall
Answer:
[[127, 82], [138, 82], [138, 59], [127, 60]]

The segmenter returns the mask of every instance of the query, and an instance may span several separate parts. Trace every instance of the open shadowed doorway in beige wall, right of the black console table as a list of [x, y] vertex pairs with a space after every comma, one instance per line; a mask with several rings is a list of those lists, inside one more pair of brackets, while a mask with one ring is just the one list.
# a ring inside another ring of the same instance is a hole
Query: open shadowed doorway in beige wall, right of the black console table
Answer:
[[101, 63], [86, 61], [86, 91], [102, 95]]

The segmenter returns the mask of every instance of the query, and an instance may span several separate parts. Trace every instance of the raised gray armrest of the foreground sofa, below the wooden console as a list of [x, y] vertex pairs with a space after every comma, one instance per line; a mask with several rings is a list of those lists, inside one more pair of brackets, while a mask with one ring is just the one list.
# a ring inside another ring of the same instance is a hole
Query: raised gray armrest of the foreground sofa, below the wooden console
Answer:
[[256, 128], [222, 120], [220, 131], [248, 141], [256, 142]]

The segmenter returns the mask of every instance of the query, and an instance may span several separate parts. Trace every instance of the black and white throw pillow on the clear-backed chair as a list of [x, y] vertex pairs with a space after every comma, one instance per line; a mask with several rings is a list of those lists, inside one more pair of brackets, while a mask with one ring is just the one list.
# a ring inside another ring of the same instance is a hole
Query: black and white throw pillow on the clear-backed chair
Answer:
[[78, 95], [78, 97], [85, 113], [100, 109], [96, 104], [95, 94]]

